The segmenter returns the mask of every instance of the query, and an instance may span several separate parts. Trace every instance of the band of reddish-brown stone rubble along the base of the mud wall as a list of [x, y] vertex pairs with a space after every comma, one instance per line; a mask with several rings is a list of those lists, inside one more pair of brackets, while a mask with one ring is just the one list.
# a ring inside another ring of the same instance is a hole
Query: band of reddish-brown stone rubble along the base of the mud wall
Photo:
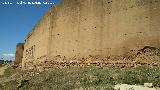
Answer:
[[62, 68], [67, 66], [99, 66], [99, 67], [138, 67], [138, 66], [160, 66], [160, 49], [146, 46], [138, 51], [129, 51], [120, 56], [88, 56], [82, 59], [75, 57], [66, 60], [60, 55], [53, 59], [42, 61], [31, 60], [25, 63], [25, 69], [38, 69], [40, 71], [49, 68]]

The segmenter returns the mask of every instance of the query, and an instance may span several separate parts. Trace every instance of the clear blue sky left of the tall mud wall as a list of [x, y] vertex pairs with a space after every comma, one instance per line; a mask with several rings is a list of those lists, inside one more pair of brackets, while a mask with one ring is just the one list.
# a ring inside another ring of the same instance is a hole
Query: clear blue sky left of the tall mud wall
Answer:
[[14, 57], [16, 44], [24, 41], [27, 34], [52, 5], [24, 3], [18, 5], [17, 2], [21, 1], [57, 4], [62, 0], [0, 0], [0, 59]]

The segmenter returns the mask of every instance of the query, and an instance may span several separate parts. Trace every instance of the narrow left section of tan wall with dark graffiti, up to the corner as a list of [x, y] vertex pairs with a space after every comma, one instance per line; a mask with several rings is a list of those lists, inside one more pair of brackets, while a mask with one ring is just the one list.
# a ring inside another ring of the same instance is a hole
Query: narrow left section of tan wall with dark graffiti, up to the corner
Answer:
[[48, 14], [45, 14], [25, 40], [22, 67], [34, 68], [35, 61], [46, 60], [49, 28], [50, 19]]

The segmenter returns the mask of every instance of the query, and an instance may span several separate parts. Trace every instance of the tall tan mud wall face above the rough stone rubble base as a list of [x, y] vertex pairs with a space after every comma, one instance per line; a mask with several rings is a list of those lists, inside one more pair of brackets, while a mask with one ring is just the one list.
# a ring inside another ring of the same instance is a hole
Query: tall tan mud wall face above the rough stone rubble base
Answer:
[[64, 0], [29, 34], [23, 65], [159, 47], [159, 6], [159, 0]]

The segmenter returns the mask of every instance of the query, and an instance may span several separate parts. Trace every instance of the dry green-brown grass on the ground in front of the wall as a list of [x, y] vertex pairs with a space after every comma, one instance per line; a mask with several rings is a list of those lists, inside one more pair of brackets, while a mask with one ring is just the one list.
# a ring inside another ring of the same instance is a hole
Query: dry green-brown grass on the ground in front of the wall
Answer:
[[[113, 90], [116, 84], [160, 85], [160, 67], [107, 68], [66, 67], [44, 72], [6, 69], [1, 82], [4, 90]], [[94, 88], [94, 89], [93, 89]], [[2, 89], [2, 90], [3, 90]]]

